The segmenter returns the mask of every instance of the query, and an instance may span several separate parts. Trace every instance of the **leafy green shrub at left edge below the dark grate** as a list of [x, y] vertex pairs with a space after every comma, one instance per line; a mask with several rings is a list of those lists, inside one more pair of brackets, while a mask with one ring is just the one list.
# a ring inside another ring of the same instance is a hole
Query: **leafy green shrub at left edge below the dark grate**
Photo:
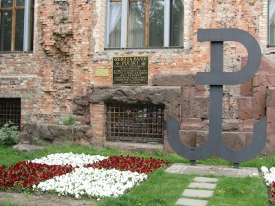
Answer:
[[0, 144], [8, 146], [17, 144], [19, 135], [19, 128], [14, 123], [8, 121], [0, 129]]

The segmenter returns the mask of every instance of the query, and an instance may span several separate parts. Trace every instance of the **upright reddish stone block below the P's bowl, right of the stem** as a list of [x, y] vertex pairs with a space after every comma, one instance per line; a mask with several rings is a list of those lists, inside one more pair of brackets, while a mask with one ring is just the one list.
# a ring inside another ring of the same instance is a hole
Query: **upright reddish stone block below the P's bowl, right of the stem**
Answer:
[[239, 118], [252, 119], [252, 97], [239, 98]]

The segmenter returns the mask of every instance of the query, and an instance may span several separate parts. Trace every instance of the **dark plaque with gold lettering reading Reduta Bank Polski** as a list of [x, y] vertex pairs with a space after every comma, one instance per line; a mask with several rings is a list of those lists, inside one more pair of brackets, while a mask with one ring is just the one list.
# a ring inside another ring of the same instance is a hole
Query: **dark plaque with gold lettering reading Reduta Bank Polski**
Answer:
[[148, 85], [148, 56], [113, 57], [113, 84]]

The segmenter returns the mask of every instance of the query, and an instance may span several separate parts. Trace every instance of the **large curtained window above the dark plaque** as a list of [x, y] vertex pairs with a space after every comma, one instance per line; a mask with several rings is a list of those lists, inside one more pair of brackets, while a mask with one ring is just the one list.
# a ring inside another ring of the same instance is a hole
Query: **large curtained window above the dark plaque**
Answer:
[[183, 0], [110, 0], [106, 14], [106, 48], [183, 45]]

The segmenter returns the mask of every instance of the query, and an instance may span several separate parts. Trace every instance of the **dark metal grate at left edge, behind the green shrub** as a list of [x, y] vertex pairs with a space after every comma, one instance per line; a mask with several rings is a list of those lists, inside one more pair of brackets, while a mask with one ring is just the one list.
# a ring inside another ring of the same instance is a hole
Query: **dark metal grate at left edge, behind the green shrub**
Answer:
[[20, 127], [20, 98], [0, 98], [0, 127], [2, 127], [8, 121], [12, 121], [15, 125]]

